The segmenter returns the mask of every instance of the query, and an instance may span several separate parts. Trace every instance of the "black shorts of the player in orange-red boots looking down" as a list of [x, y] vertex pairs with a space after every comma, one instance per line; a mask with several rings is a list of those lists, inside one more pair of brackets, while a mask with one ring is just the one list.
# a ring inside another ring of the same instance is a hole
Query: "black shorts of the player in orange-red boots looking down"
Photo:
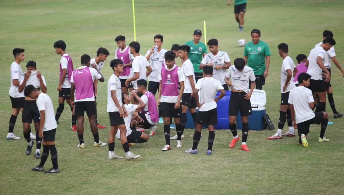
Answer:
[[228, 116], [238, 116], [240, 110], [241, 117], [252, 115], [251, 101], [245, 99], [245, 92], [230, 93]]

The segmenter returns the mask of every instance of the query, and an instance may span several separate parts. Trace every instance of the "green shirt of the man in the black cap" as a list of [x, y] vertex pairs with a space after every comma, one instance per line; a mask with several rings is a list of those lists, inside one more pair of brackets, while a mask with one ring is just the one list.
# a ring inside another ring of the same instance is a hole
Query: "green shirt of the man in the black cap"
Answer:
[[188, 56], [194, 67], [194, 72], [203, 73], [203, 70], [200, 70], [198, 67], [200, 67], [200, 64], [202, 62], [203, 53], [207, 53], [207, 47], [201, 41], [199, 41], [198, 44], [195, 45], [192, 40], [186, 42], [185, 45], [190, 46], [190, 52]]

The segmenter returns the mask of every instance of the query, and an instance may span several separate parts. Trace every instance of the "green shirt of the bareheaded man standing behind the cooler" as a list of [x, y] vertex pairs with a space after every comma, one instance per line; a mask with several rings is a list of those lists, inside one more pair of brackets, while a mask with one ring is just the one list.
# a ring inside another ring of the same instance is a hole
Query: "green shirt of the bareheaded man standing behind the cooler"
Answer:
[[247, 56], [247, 66], [253, 69], [255, 75], [262, 75], [265, 71], [265, 56], [270, 56], [268, 44], [259, 40], [255, 45], [252, 41], [245, 45], [244, 56]]

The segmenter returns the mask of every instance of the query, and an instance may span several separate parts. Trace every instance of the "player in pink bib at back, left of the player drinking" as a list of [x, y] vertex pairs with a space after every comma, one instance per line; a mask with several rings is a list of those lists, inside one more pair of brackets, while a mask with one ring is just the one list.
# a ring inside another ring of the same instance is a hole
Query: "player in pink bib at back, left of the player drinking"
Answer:
[[[129, 95], [129, 91], [133, 89], [133, 85], [130, 82], [129, 86], [126, 86], [126, 80], [132, 76], [132, 61], [134, 56], [130, 53], [130, 48], [126, 45], [126, 37], [119, 35], [115, 39], [118, 49], [115, 52], [115, 59], [120, 59], [123, 62], [123, 72], [119, 75], [121, 81], [122, 91]], [[129, 90], [129, 91], [128, 91]]]

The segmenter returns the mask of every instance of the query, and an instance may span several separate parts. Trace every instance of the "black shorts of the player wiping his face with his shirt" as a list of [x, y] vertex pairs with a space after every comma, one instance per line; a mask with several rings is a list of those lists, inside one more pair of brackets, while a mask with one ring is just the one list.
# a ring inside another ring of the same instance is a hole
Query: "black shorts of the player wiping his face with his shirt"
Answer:
[[22, 113], [22, 122], [40, 122], [40, 111], [38, 111], [36, 100], [25, 100], [23, 113]]

